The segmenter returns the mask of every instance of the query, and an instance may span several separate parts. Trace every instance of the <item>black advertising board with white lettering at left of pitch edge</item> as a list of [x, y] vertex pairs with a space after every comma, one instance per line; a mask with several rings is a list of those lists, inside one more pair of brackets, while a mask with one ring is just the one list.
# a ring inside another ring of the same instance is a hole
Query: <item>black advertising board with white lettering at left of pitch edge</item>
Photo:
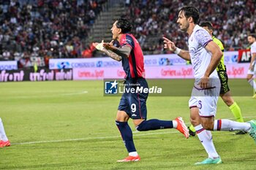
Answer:
[[0, 71], [0, 82], [72, 80], [72, 69], [19, 69]]

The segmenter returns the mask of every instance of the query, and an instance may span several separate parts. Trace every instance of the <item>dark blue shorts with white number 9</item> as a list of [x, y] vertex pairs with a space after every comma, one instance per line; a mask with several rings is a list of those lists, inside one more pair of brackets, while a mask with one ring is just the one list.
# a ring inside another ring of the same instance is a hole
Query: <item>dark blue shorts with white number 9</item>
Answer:
[[[145, 79], [140, 78], [138, 80], [126, 80], [124, 84], [126, 90], [121, 96], [118, 110], [127, 112], [127, 115], [129, 115], [129, 117], [132, 119], [146, 120], [146, 100], [148, 98], [148, 93], [144, 93], [141, 89], [148, 88], [148, 83]], [[135, 89], [135, 93], [132, 92], [132, 88]], [[136, 91], [136, 89], [140, 90]], [[128, 90], [129, 92], [127, 92]]]

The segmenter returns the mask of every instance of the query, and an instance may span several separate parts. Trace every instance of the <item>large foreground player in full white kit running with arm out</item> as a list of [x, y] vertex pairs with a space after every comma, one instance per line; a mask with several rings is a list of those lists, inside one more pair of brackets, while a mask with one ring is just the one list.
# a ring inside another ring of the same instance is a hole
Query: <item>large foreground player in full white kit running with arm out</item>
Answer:
[[208, 153], [206, 160], [195, 164], [218, 164], [222, 163], [222, 160], [215, 150], [211, 131], [243, 130], [249, 132], [256, 142], [256, 120], [251, 120], [249, 123], [238, 123], [227, 119], [214, 120], [220, 88], [216, 67], [222, 58], [222, 51], [212, 41], [208, 32], [197, 25], [198, 20], [197, 8], [182, 7], [178, 13], [177, 23], [181, 31], [189, 34], [189, 51], [179, 49], [165, 37], [163, 37], [164, 47], [181, 58], [192, 61], [195, 84], [189, 100], [190, 121], [197, 131], [198, 139]]

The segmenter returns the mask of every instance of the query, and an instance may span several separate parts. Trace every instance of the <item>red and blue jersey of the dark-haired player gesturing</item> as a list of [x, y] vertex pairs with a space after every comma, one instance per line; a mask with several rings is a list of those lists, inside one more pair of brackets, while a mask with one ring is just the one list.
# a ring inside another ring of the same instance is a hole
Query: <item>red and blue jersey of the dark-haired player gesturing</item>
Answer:
[[132, 34], [123, 34], [120, 46], [124, 45], [128, 45], [132, 49], [129, 58], [122, 58], [125, 78], [145, 78], [144, 57], [138, 40]]

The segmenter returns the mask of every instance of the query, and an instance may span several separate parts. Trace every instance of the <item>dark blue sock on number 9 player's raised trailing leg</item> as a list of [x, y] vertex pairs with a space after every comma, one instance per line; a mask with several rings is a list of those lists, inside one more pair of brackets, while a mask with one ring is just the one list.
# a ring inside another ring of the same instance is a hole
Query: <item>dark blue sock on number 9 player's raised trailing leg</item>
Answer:
[[173, 121], [151, 119], [144, 120], [142, 123], [140, 123], [140, 125], [137, 126], [138, 131], [150, 131], [162, 128], [173, 128]]

